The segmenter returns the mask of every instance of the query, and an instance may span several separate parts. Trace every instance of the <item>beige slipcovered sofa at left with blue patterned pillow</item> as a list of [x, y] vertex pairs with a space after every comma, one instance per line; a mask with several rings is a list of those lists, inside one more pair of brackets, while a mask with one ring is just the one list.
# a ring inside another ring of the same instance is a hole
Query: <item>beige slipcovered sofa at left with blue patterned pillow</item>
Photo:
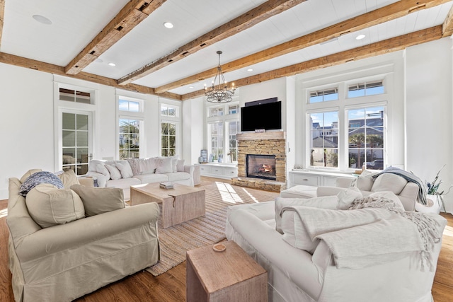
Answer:
[[120, 189], [79, 185], [72, 171], [59, 178], [35, 169], [9, 179], [16, 301], [72, 301], [159, 261], [156, 203], [125, 207]]

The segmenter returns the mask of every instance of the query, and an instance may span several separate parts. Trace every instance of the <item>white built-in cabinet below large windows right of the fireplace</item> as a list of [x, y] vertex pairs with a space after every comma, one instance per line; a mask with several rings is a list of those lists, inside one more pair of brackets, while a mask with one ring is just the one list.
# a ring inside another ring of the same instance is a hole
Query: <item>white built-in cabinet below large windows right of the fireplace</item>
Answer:
[[292, 170], [289, 171], [288, 187], [294, 187], [294, 185], [312, 185], [315, 187], [319, 187], [321, 185], [328, 185], [334, 187], [336, 179], [338, 177], [354, 178], [352, 174], [346, 173], [329, 173], [311, 170]]

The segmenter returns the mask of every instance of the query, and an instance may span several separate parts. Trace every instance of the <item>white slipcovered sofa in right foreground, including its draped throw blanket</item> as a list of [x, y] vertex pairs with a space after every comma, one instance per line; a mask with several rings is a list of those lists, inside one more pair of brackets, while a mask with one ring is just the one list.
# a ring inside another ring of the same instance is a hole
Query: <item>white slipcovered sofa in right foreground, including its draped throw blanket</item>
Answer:
[[[398, 208], [399, 215], [387, 209], [342, 210], [357, 191], [341, 194], [229, 207], [226, 238], [268, 271], [269, 301], [431, 302], [446, 219], [403, 211], [391, 192], [362, 198], [388, 197], [386, 207]], [[429, 222], [433, 236], [420, 237], [429, 237], [432, 245], [417, 236], [416, 224], [405, 216]], [[343, 245], [333, 245], [338, 241]]]

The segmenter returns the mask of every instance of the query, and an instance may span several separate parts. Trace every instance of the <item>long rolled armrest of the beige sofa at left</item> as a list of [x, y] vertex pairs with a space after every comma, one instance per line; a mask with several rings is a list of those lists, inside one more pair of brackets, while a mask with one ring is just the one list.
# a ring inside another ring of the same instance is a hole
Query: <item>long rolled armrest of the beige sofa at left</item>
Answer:
[[16, 254], [21, 261], [33, 260], [141, 226], [151, 226], [157, 237], [158, 218], [155, 202], [109, 211], [31, 233], [15, 243]]

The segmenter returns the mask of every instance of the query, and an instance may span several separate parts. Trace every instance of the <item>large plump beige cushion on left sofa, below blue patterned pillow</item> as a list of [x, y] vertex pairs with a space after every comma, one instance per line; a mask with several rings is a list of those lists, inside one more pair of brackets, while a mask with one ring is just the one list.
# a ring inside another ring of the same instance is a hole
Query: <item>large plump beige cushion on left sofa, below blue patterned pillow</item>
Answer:
[[85, 217], [84, 204], [76, 192], [46, 183], [30, 190], [25, 203], [30, 216], [42, 228]]

